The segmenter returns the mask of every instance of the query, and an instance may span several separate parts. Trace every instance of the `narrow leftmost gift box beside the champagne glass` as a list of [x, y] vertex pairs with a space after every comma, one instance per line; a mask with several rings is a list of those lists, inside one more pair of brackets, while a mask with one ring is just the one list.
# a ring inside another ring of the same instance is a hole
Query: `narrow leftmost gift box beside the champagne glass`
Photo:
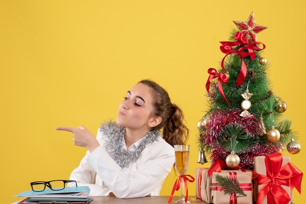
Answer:
[[209, 168], [196, 168], [196, 196], [210, 204], [212, 177], [208, 176]]

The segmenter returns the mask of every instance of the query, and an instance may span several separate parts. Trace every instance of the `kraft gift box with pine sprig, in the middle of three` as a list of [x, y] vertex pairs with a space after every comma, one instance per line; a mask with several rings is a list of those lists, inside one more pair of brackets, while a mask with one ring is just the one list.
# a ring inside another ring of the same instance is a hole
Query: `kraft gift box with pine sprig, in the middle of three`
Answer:
[[[231, 181], [235, 187], [242, 190], [244, 195], [236, 190], [232, 190], [231, 193], [225, 192], [225, 190], [229, 188], [224, 189], [224, 186], [222, 188], [222, 185], [216, 180], [217, 175]], [[252, 179], [251, 170], [222, 170], [221, 172], [213, 172], [211, 202], [214, 204], [253, 204]], [[235, 183], [234, 180], [237, 180], [239, 184]]]

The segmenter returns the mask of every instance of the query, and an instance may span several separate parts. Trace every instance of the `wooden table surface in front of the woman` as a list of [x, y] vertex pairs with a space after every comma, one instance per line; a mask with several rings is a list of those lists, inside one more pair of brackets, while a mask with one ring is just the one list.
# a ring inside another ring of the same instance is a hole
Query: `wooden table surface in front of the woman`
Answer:
[[[92, 196], [93, 201], [89, 204], [168, 204], [170, 196], [147, 196], [143, 198], [127, 198], [118, 199], [114, 196]], [[172, 204], [179, 199], [179, 196], [174, 196]], [[199, 200], [196, 196], [188, 196], [188, 201], [191, 204], [206, 204]]]

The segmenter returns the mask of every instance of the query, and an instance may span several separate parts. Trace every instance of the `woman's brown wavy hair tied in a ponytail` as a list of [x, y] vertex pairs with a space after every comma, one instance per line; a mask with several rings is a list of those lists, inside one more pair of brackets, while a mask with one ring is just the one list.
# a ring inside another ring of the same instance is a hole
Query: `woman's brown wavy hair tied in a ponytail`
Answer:
[[175, 144], [186, 144], [189, 137], [189, 129], [184, 124], [183, 111], [170, 100], [168, 92], [151, 80], [142, 80], [142, 83], [152, 89], [154, 116], [159, 116], [162, 121], [152, 130], [162, 129], [164, 140], [174, 146]]

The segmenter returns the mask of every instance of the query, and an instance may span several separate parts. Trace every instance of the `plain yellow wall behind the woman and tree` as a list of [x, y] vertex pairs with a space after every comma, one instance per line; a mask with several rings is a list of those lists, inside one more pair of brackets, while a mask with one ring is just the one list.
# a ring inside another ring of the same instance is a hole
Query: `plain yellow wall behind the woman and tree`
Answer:
[[[1, 0], [1, 203], [18, 200], [12, 196], [30, 182], [68, 179], [86, 149], [55, 127], [82, 124], [96, 133], [100, 122], [116, 118], [126, 91], [147, 78], [184, 110], [188, 173], [195, 176], [195, 168], [209, 165], [197, 163], [196, 144], [207, 69], [224, 56], [219, 41], [228, 40], [232, 20], [252, 11], [268, 27], [258, 41], [266, 45], [272, 90], [301, 139], [298, 155], [284, 154], [306, 172], [303, 0]], [[170, 195], [175, 178], [172, 171], [161, 195]], [[302, 196], [294, 191], [296, 204], [305, 201], [305, 187]], [[195, 188], [188, 184], [189, 195]]]

